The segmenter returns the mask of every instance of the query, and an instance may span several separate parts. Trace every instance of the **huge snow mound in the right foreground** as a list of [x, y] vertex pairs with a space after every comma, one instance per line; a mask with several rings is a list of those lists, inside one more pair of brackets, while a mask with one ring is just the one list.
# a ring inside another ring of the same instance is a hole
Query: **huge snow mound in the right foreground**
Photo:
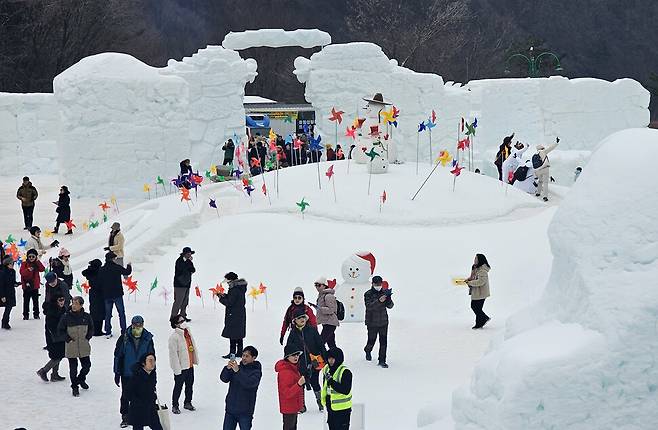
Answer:
[[656, 130], [601, 143], [549, 227], [543, 297], [508, 320], [505, 341], [455, 392], [457, 429], [655, 427], [657, 156]]

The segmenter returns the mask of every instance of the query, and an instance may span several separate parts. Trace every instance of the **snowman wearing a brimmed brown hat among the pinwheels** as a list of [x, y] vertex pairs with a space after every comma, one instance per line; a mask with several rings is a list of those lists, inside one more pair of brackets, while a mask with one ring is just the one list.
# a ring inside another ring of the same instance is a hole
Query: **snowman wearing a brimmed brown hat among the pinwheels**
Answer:
[[[359, 129], [356, 138], [356, 148], [352, 152], [354, 160], [359, 164], [368, 164], [368, 171], [373, 174], [387, 173], [389, 161], [389, 136], [388, 125], [382, 123], [381, 112], [391, 103], [384, 101], [381, 93], [372, 98], [364, 98], [367, 101], [365, 109], [365, 122]], [[374, 151], [374, 158], [367, 155]], [[378, 155], [374, 155], [377, 153]]]

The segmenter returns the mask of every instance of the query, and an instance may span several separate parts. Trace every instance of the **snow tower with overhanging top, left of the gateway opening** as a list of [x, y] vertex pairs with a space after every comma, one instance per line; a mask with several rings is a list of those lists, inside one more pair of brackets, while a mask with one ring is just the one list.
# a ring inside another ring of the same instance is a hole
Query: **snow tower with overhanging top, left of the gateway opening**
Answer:
[[234, 134], [244, 136], [244, 86], [254, 81], [256, 68], [254, 59], [244, 60], [235, 51], [208, 46], [182, 61], [169, 60], [160, 71], [163, 76], [178, 76], [188, 83], [189, 158], [193, 167], [204, 170], [223, 160], [224, 141]]

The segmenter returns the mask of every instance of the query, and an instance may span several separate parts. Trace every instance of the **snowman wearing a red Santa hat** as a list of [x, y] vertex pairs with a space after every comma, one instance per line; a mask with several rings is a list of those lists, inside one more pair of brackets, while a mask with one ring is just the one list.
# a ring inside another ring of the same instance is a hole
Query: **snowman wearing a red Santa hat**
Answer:
[[341, 267], [343, 283], [336, 288], [336, 298], [345, 306], [343, 322], [363, 322], [366, 306], [363, 294], [371, 287], [370, 278], [375, 272], [375, 256], [370, 252], [350, 255]]

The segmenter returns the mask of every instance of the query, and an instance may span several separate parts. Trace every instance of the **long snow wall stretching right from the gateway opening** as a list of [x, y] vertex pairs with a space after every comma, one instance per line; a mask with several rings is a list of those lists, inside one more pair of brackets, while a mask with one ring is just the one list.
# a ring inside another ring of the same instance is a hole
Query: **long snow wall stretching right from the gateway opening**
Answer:
[[[345, 128], [357, 109], [363, 117], [363, 97], [380, 92], [401, 110], [398, 158], [416, 161], [417, 129], [432, 109], [437, 127], [432, 130], [432, 154], [455, 150], [462, 117], [478, 118], [474, 146], [475, 167], [495, 173], [493, 158], [504, 136], [535, 146], [561, 138], [561, 153], [552, 154], [553, 176], [571, 183], [573, 171], [590, 151], [615, 131], [649, 124], [649, 92], [638, 82], [620, 79], [567, 79], [563, 77], [489, 79], [467, 85], [445, 83], [439, 75], [416, 73], [389, 60], [372, 43], [329, 45], [310, 59], [298, 57], [295, 72], [306, 84], [305, 97], [316, 110], [316, 122], [326, 141], [334, 140], [334, 123], [328, 120], [332, 107], [346, 112], [339, 143], [350, 145]], [[569, 151], [569, 152], [566, 152]], [[575, 151], [575, 152], [571, 152]], [[528, 156], [532, 153], [529, 151]], [[429, 133], [420, 135], [420, 160], [429, 162]]]

